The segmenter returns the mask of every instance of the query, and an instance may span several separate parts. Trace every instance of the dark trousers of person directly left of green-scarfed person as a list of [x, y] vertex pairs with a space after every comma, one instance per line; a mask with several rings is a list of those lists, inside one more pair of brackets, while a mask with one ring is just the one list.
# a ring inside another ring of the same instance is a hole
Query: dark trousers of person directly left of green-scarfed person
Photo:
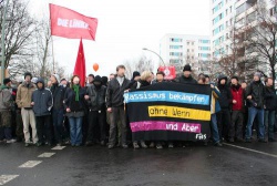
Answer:
[[63, 127], [63, 110], [53, 110], [53, 126], [54, 126], [54, 140], [57, 143], [62, 143], [65, 138], [65, 131]]

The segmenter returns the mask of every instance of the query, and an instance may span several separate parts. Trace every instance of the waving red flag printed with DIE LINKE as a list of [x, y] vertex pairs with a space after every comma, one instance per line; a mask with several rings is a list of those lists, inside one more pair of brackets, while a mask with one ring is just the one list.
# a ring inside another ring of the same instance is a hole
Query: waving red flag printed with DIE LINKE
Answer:
[[95, 40], [98, 19], [85, 17], [64, 7], [49, 4], [52, 35]]

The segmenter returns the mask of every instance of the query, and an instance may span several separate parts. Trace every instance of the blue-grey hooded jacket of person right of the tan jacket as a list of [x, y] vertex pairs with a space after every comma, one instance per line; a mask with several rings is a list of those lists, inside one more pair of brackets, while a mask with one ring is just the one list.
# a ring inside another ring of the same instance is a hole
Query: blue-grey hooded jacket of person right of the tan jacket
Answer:
[[53, 96], [50, 90], [45, 89], [44, 81], [38, 79], [37, 83], [42, 83], [42, 89], [37, 89], [32, 93], [33, 112], [35, 116], [51, 115], [51, 108], [53, 106]]

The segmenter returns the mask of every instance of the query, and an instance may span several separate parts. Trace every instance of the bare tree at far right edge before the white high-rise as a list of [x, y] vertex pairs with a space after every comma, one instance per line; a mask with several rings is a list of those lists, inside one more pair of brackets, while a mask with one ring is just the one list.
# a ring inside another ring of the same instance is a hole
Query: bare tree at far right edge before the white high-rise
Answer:
[[[268, 10], [269, 3], [273, 9]], [[258, 59], [257, 69], [267, 71], [276, 80], [277, 16], [276, 0], [259, 0], [255, 4], [256, 21], [248, 21], [244, 28], [247, 50]]]

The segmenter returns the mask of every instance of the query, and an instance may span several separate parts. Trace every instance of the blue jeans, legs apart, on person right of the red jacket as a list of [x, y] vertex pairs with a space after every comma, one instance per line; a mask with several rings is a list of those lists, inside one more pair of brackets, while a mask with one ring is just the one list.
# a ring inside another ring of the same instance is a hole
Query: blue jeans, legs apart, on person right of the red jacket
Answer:
[[249, 140], [252, 137], [252, 126], [256, 115], [258, 116], [258, 138], [265, 138], [264, 111], [264, 108], [256, 108], [254, 106], [248, 108], [248, 122], [245, 134], [246, 140]]

